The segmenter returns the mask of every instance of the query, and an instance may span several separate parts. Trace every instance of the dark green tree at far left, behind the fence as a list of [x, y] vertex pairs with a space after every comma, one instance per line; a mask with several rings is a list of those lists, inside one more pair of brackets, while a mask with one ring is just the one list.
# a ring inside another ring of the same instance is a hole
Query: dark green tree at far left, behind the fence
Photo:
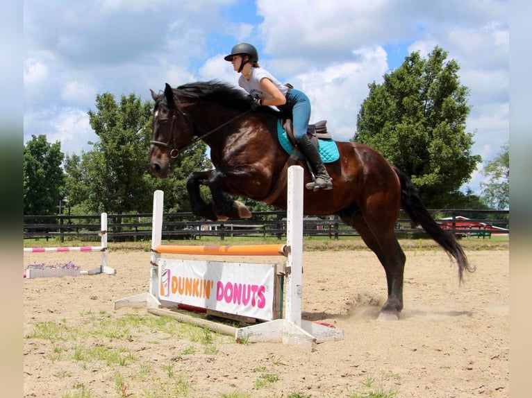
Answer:
[[61, 144], [50, 144], [46, 135], [31, 136], [24, 146], [24, 214], [58, 214], [63, 198]]

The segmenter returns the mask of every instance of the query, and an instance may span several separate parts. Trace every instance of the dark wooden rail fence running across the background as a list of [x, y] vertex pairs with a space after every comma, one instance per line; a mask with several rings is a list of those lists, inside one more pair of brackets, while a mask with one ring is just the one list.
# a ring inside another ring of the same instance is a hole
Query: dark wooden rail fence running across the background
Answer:
[[[509, 233], [509, 211], [445, 209], [429, 210], [445, 230], [458, 237]], [[108, 214], [108, 241], [138, 241], [150, 239], [152, 214]], [[283, 239], [286, 234], [285, 211], [259, 211], [247, 220], [212, 222], [199, 220], [192, 213], [166, 213], [163, 215], [163, 239], [201, 239], [203, 236], [267, 237]], [[463, 218], [467, 217], [467, 218]], [[24, 239], [98, 240], [100, 215], [86, 216], [24, 216]], [[344, 225], [338, 217], [304, 218], [306, 236], [357, 236], [358, 232]], [[399, 214], [396, 232], [406, 236], [422, 236], [424, 231], [411, 224], [403, 211]]]

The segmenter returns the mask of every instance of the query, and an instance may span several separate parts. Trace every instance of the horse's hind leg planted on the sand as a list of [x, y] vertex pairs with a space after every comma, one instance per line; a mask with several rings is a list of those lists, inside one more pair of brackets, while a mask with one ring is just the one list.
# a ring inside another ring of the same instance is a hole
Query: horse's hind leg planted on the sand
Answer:
[[366, 243], [381, 262], [388, 286], [388, 300], [381, 308], [379, 318], [399, 318], [399, 313], [403, 309], [403, 282], [404, 265], [406, 257], [401, 245], [395, 236], [393, 225], [386, 226], [384, 220], [379, 220], [378, 216], [365, 214], [360, 210], [353, 211], [352, 214], [340, 214], [342, 221], [356, 228], [360, 237]]

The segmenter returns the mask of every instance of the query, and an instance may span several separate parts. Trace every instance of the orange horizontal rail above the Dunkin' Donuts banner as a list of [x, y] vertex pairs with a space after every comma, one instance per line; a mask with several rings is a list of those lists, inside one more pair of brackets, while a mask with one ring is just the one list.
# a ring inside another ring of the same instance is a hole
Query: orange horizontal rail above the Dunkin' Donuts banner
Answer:
[[154, 252], [165, 254], [199, 254], [215, 256], [287, 256], [288, 247], [282, 245], [156, 245]]

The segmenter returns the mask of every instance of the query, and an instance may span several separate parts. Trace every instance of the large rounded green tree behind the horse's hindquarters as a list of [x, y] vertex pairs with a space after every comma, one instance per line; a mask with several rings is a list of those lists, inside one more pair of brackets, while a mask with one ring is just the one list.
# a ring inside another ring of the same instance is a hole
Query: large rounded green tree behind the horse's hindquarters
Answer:
[[465, 132], [469, 89], [460, 85], [458, 63], [446, 58], [438, 46], [427, 59], [411, 53], [383, 84], [370, 84], [354, 137], [407, 173], [432, 208], [462, 200], [458, 189], [481, 162]]

